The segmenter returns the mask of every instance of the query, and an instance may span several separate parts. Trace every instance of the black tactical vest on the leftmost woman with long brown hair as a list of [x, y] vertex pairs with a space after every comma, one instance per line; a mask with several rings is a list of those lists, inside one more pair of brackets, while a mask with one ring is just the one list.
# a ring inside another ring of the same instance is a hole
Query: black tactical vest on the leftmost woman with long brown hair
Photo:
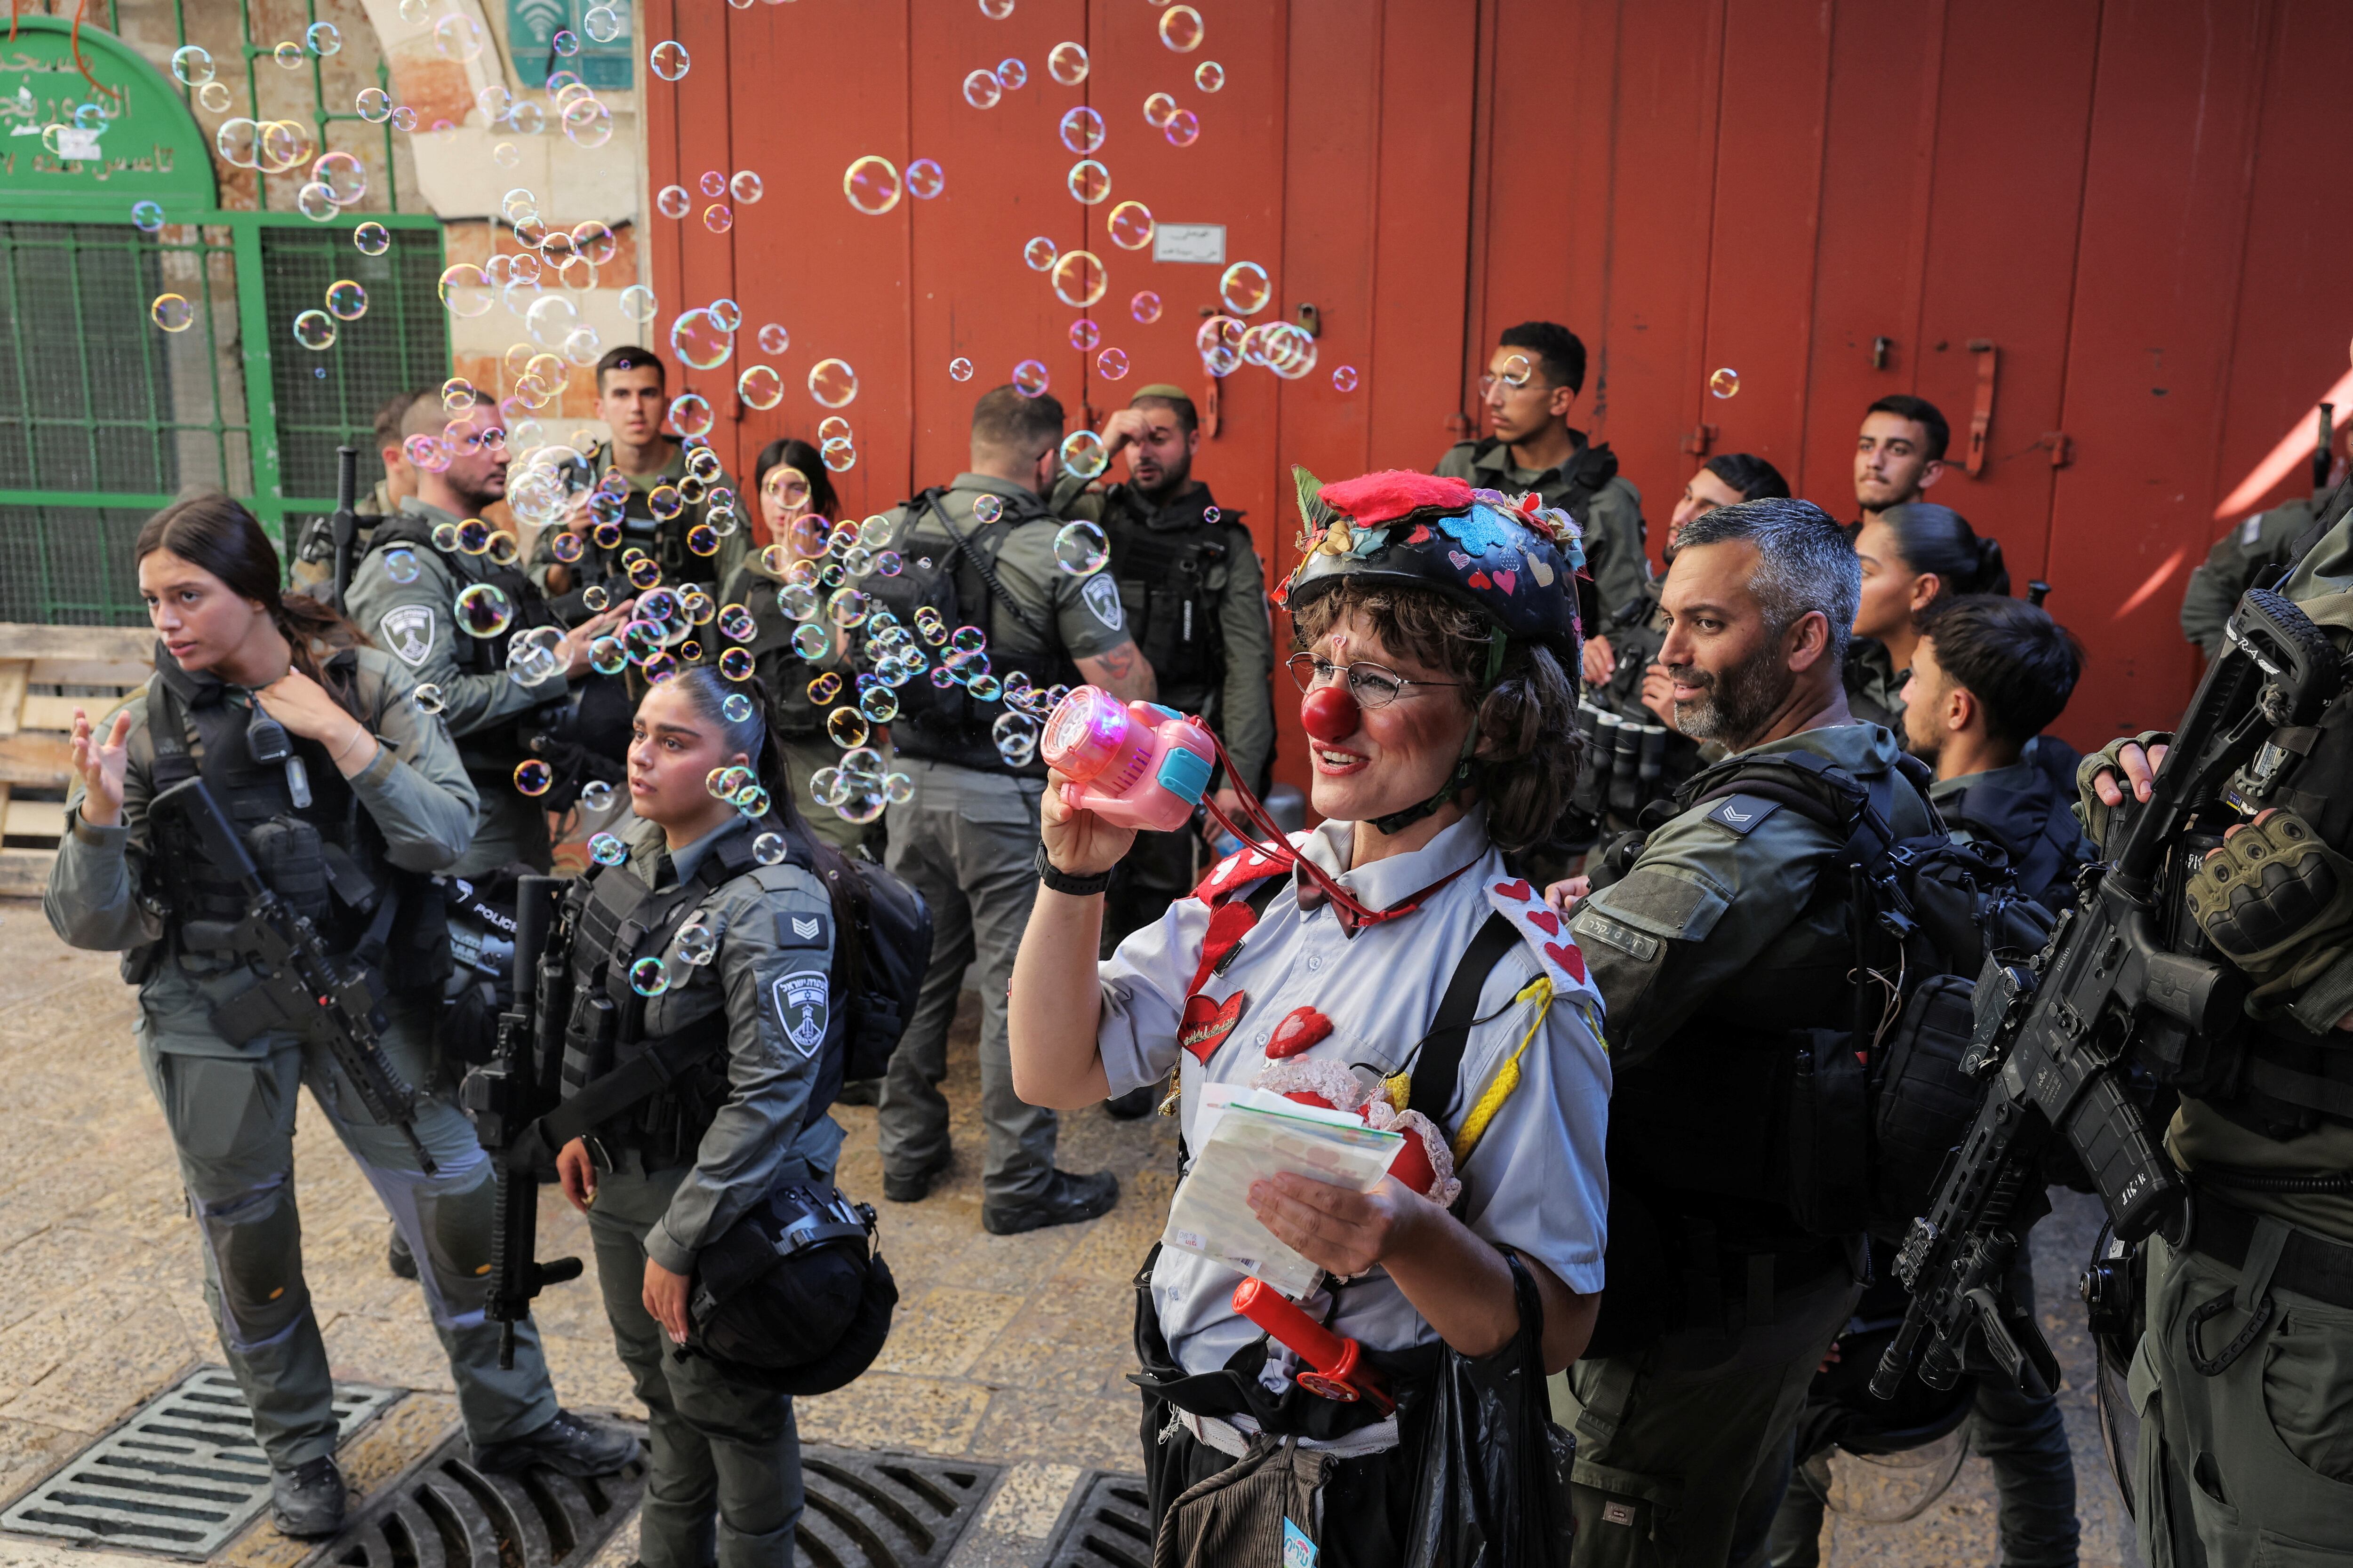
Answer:
[[[351, 649], [327, 663], [329, 679], [346, 686], [355, 670]], [[231, 703], [219, 679], [181, 670], [162, 644], [155, 644], [146, 715], [155, 790], [202, 776], [261, 879], [318, 926], [332, 952], [369, 964], [393, 992], [438, 987], [447, 978], [445, 900], [431, 877], [388, 860], [384, 832], [325, 745], [287, 731], [292, 759], [256, 762], [247, 745], [252, 708]], [[374, 729], [369, 715], [353, 717]], [[144, 896], [169, 919], [160, 952], [141, 966], [165, 952], [172, 959], [207, 954], [216, 966], [216, 954], [228, 952], [226, 929], [249, 912], [238, 882], [162, 825], [146, 860]]]

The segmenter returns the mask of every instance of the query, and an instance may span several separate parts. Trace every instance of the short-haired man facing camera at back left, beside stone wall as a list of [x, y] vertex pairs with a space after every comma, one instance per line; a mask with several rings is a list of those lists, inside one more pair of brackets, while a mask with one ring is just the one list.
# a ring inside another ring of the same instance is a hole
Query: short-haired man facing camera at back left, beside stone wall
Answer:
[[[708, 465], [708, 458], [701, 473], [689, 465], [687, 449], [661, 433], [668, 411], [661, 360], [652, 350], [614, 348], [595, 362], [595, 416], [612, 430], [612, 440], [588, 454], [588, 470], [593, 482], [614, 489], [626, 482], [628, 489], [619, 496], [616, 534], [600, 536], [591, 527], [593, 505], [586, 498], [579, 503], [579, 515], [567, 524], [584, 536], [576, 562], [567, 564], [555, 555], [555, 538], [565, 529], [544, 529], [532, 545], [532, 581], [567, 623], [588, 614], [579, 595], [591, 585], [602, 588], [609, 599], [628, 597], [628, 550], [645, 550], [671, 588], [701, 583], [713, 595], [751, 552], [751, 529], [727, 522], [713, 505], [713, 491], [734, 494], [734, 480]], [[729, 510], [741, 517], [741, 505]], [[704, 651], [715, 656], [715, 646]]]

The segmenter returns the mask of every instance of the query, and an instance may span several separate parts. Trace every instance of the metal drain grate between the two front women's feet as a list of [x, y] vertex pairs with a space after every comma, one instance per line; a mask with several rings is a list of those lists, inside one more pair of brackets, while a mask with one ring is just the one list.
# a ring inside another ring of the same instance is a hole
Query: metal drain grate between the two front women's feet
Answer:
[[466, 1434], [426, 1455], [318, 1554], [336, 1568], [572, 1568], [638, 1512], [645, 1460], [572, 1479], [534, 1467], [496, 1476], [473, 1465]]

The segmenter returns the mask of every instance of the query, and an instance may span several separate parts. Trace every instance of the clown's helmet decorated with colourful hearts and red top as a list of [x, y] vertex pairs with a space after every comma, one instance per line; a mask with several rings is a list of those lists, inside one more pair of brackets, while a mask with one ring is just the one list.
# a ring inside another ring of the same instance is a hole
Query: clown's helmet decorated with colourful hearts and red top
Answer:
[[1386, 470], [1299, 484], [1299, 567], [1275, 588], [1289, 609], [1341, 578], [1412, 583], [1480, 611], [1513, 642], [1546, 644], [1577, 668], [1579, 527], [1534, 494], [1518, 501], [1468, 480]]

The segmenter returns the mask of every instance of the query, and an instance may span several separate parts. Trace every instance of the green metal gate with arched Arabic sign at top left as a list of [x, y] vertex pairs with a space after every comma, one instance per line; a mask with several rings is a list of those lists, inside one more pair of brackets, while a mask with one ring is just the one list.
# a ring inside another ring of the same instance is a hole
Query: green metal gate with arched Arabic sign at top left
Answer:
[[[287, 536], [334, 508], [334, 449], [372, 451], [376, 407], [449, 374], [440, 223], [224, 212], [209, 143], [172, 80], [82, 26], [99, 94], [71, 24], [16, 28], [0, 52], [0, 122], [9, 110], [9, 129], [28, 115], [71, 122], [99, 103], [87, 118], [104, 122], [104, 153], [0, 136], [0, 621], [141, 625], [129, 552], [148, 515], [181, 491], [226, 489]], [[320, 132], [346, 118], [315, 113]], [[388, 162], [379, 169], [388, 183]], [[160, 205], [162, 226], [146, 233], [136, 202]], [[362, 221], [391, 230], [381, 256], [353, 244]], [[336, 280], [367, 289], [367, 313], [313, 353], [289, 322]], [[160, 294], [188, 301], [186, 329], [151, 320]], [[374, 475], [362, 458], [362, 489]]]

